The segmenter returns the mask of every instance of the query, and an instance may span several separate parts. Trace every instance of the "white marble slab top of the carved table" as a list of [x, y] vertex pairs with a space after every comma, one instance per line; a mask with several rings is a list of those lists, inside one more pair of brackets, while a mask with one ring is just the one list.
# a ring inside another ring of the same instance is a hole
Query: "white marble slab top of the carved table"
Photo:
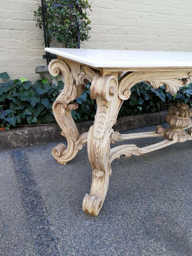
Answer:
[[45, 51], [95, 68], [192, 67], [192, 52], [45, 48]]

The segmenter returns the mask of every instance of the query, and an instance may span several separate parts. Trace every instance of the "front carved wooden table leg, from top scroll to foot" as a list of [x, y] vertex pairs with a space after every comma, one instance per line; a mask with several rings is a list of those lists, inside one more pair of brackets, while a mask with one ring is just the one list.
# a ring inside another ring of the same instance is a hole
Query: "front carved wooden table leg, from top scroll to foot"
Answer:
[[110, 136], [122, 104], [122, 100], [118, 98], [118, 73], [107, 76], [96, 74], [90, 92], [91, 98], [96, 98], [97, 113], [87, 138], [88, 157], [92, 166], [92, 185], [90, 194], [84, 197], [83, 211], [97, 216], [108, 190], [111, 174]]

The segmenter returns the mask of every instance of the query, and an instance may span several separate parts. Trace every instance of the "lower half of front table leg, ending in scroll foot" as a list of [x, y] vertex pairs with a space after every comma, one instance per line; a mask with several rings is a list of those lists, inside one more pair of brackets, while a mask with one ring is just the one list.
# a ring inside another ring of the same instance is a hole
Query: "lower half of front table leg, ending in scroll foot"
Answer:
[[93, 136], [94, 130], [94, 126], [91, 126], [87, 138], [87, 151], [92, 166], [92, 185], [90, 194], [84, 197], [82, 208], [84, 212], [98, 216], [107, 194], [111, 174], [109, 142], [113, 130], [109, 128], [101, 139]]

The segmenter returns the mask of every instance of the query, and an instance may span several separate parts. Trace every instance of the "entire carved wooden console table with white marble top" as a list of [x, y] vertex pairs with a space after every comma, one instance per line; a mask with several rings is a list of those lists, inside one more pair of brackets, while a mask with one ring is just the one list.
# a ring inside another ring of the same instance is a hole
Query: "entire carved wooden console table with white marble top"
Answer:
[[[83, 199], [83, 211], [97, 216], [104, 203], [111, 175], [111, 162], [120, 155], [143, 155], [176, 142], [192, 140], [191, 111], [187, 104], [170, 108], [166, 130], [160, 125], [156, 131], [120, 134], [113, 125], [124, 100], [129, 99], [134, 84], [145, 81], [154, 89], [164, 85], [166, 92], [176, 94], [180, 87], [192, 82], [192, 52], [120, 51], [93, 49], [45, 48], [57, 55], [49, 64], [52, 76], [60, 73], [65, 80], [63, 91], [53, 103], [53, 114], [68, 146], [59, 144], [52, 156], [60, 164], [67, 164], [87, 143], [92, 167], [90, 194]], [[120, 79], [118, 79], [120, 77]], [[73, 102], [87, 82], [90, 95], [97, 101], [97, 113], [89, 132], [79, 135], [71, 110], [78, 108]], [[187, 132], [185, 132], [187, 130]], [[156, 144], [139, 148], [127, 144], [110, 149], [110, 143], [136, 138], [162, 137]]]

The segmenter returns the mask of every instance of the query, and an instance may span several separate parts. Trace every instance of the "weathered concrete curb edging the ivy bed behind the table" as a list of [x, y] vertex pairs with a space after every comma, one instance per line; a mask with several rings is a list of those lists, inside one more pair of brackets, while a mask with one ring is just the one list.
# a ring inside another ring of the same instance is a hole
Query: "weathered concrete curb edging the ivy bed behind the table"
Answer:
[[[114, 131], [132, 130], [141, 127], [166, 123], [168, 111], [124, 116], [117, 119]], [[88, 132], [93, 120], [76, 122], [79, 133]], [[65, 139], [60, 135], [58, 125], [41, 125], [33, 127], [15, 128], [0, 132], [0, 150], [23, 148], [50, 142], [60, 142]]]

